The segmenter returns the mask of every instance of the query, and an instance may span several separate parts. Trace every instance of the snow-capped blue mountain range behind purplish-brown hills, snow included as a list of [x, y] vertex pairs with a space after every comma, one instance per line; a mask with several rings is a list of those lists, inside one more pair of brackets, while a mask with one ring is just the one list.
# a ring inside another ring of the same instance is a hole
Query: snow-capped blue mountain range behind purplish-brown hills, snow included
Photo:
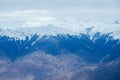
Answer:
[[94, 53], [90, 55], [97, 59], [99, 56], [99, 62], [102, 62], [106, 55], [113, 57], [113, 54], [119, 53], [118, 25], [110, 26], [97, 22], [94, 24], [92, 21], [83, 22], [73, 18], [59, 20], [59, 24], [60, 22], [61, 25], [55, 22], [56, 24], [51, 23], [40, 27], [1, 29], [1, 50], [5, 51], [12, 60], [38, 50], [54, 55], [61, 54], [64, 50], [80, 55], [85, 52], [87, 56], [94, 52], [98, 55]]

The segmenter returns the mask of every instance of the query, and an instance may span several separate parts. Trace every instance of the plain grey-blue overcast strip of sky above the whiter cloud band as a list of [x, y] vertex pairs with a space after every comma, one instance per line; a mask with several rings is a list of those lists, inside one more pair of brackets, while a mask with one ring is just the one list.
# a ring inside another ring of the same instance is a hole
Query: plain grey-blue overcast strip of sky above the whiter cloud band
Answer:
[[1, 11], [45, 9], [81, 10], [117, 8], [119, 0], [0, 0]]

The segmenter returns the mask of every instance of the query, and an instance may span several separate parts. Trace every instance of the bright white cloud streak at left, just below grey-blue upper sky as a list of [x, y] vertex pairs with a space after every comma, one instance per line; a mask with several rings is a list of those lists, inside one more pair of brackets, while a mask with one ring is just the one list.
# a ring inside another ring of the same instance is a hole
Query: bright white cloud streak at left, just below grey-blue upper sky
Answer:
[[0, 21], [26, 21], [48, 17], [50, 11], [47, 10], [23, 10], [0, 13]]

